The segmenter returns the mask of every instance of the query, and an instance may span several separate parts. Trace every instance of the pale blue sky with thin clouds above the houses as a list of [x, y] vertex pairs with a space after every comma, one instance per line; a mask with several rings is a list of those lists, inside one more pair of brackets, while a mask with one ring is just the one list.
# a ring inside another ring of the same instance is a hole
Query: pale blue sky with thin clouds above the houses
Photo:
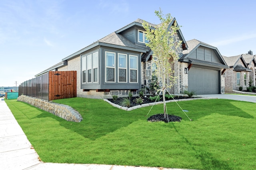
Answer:
[[175, 17], [186, 41], [256, 54], [253, 0], [0, 0], [0, 86], [15, 86], [137, 18]]

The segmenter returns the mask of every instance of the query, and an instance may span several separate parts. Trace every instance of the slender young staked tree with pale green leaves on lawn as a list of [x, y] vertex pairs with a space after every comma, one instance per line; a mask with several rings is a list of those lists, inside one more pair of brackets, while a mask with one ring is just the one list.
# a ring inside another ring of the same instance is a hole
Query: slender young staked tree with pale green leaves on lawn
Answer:
[[163, 94], [164, 100], [164, 117], [166, 114], [166, 102], [164, 94], [166, 88], [171, 88], [175, 83], [175, 76], [173, 66], [178, 60], [178, 53], [180, 51], [181, 41], [178, 41], [177, 30], [179, 27], [174, 21], [173, 24], [170, 14], [165, 16], [162, 14], [161, 9], [155, 11], [156, 16], [160, 19], [161, 23], [157, 27], [152, 28], [148, 22], [144, 21], [142, 23], [144, 29], [146, 30], [146, 39], [148, 43], [146, 46], [150, 47], [153, 51], [152, 63], [156, 64], [155, 75], [158, 77], [162, 84], [160, 89]]

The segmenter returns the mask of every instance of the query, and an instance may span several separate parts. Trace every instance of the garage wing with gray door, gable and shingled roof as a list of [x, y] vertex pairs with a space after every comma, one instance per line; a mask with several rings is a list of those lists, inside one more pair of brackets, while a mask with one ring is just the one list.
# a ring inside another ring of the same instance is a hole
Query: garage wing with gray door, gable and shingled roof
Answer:
[[179, 76], [180, 93], [184, 90], [196, 94], [224, 93], [225, 80], [222, 75], [228, 66], [218, 49], [196, 39], [187, 41], [187, 45], [188, 49], [178, 60], [181, 72], [188, 72]]

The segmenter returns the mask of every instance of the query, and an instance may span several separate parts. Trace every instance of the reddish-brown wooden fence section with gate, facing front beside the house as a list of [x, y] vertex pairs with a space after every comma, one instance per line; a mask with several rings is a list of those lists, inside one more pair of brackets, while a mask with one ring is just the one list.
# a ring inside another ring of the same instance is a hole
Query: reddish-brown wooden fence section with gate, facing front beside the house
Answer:
[[49, 72], [49, 101], [76, 97], [76, 71]]

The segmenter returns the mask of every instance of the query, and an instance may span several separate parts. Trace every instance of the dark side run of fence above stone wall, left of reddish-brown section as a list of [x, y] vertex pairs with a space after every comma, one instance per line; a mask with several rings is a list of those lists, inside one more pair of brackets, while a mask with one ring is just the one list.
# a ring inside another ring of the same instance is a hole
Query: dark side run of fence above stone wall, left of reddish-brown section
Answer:
[[20, 95], [49, 101], [49, 72], [21, 83], [19, 86]]

